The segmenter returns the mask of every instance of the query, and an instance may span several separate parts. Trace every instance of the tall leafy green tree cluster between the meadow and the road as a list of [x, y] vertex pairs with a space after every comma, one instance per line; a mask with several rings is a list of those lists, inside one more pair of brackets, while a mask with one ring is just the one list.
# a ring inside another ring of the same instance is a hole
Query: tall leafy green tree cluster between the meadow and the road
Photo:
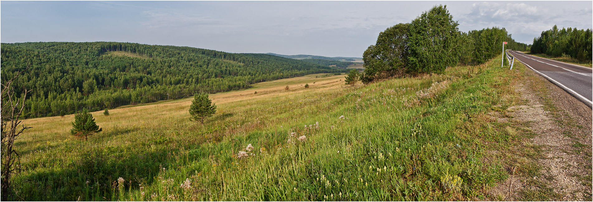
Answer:
[[400, 23], [382, 31], [377, 43], [363, 54], [365, 70], [361, 81], [368, 83], [391, 76], [442, 73], [453, 65], [479, 65], [505, 49], [527, 50], [512, 39], [505, 28], [484, 28], [464, 33], [447, 6], [423, 12], [411, 23]]

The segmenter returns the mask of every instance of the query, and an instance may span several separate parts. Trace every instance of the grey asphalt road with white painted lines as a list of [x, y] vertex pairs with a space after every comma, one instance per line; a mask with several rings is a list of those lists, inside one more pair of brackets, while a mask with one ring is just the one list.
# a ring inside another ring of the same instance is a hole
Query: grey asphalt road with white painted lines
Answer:
[[[570, 65], [556, 60], [543, 59], [529, 54], [508, 51], [519, 62], [524, 63], [535, 72], [547, 78], [550, 82], [560, 86], [574, 97], [593, 105], [593, 70], [581, 66]], [[517, 61], [515, 61], [517, 62]]]

